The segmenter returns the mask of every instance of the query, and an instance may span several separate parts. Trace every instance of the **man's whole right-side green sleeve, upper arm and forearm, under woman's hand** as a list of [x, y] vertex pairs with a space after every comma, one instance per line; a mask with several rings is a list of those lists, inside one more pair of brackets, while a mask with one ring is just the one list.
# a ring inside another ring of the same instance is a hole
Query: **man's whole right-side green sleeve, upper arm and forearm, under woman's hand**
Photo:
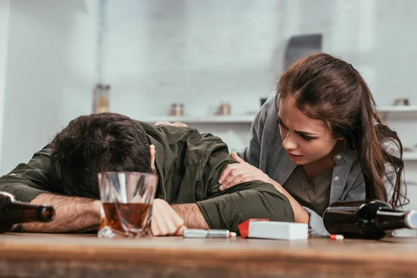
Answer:
[[268, 218], [271, 221], [293, 222], [294, 214], [285, 195], [270, 183], [250, 181], [220, 191], [218, 179], [224, 167], [236, 161], [231, 158], [227, 145], [215, 136], [205, 149], [202, 163], [202, 192], [197, 205], [212, 229], [229, 229], [238, 233], [238, 224], [250, 218]]

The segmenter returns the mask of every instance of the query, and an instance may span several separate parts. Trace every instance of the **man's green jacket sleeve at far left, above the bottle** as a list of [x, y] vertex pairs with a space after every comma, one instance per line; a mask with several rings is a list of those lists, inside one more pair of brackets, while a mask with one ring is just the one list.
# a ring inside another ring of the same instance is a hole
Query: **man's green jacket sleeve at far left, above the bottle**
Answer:
[[50, 150], [44, 147], [28, 163], [20, 163], [12, 172], [0, 177], [0, 191], [13, 194], [22, 202], [31, 202], [41, 193], [58, 193], [51, 177], [49, 154]]

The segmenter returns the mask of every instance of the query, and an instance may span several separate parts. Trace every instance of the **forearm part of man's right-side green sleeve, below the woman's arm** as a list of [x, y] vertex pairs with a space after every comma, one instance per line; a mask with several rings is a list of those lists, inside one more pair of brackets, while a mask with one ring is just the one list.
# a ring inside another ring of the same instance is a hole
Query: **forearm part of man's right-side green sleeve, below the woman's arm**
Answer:
[[229, 229], [238, 234], [238, 224], [250, 218], [294, 222], [293, 209], [285, 195], [261, 181], [240, 183], [197, 205], [211, 229]]

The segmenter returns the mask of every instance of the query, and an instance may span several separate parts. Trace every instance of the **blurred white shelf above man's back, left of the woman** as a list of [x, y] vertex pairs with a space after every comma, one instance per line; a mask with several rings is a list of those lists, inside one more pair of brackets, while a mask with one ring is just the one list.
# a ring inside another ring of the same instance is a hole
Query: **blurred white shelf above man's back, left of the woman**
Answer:
[[255, 115], [213, 115], [213, 116], [158, 116], [149, 117], [144, 122], [183, 122], [183, 123], [202, 123], [202, 124], [251, 124]]

